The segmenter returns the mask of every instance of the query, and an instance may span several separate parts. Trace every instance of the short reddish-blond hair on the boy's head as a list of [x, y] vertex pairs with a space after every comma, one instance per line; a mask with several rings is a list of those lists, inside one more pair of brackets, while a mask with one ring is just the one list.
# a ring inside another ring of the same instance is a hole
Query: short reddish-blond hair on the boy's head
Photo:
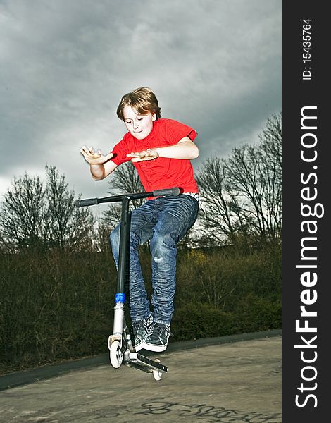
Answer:
[[150, 88], [136, 88], [132, 92], [123, 95], [117, 108], [117, 116], [124, 121], [123, 109], [131, 106], [139, 114], [155, 113], [156, 119], [161, 118], [161, 107], [158, 107], [158, 99]]

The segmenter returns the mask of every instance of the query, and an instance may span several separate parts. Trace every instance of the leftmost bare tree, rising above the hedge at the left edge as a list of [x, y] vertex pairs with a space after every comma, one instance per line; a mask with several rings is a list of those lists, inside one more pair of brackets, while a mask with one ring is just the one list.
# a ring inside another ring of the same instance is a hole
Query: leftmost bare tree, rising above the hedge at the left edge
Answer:
[[45, 192], [39, 176], [13, 179], [1, 203], [1, 243], [9, 251], [37, 247], [44, 240]]

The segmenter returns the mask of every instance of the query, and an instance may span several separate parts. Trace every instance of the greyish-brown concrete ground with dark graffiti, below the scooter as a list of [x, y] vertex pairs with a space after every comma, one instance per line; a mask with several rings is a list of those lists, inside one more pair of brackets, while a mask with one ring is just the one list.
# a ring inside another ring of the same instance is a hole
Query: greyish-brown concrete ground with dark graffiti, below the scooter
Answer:
[[150, 357], [169, 368], [161, 381], [124, 365], [97, 364], [3, 390], [0, 422], [282, 421], [280, 336]]

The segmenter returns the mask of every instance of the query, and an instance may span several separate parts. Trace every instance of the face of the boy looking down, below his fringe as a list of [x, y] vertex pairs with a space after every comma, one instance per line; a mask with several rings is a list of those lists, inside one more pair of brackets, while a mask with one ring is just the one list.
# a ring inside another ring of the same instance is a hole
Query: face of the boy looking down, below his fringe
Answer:
[[144, 140], [153, 129], [153, 122], [156, 114], [149, 112], [148, 114], [138, 114], [131, 106], [125, 106], [123, 109], [124, 123], [130, 134], [137, 140]]

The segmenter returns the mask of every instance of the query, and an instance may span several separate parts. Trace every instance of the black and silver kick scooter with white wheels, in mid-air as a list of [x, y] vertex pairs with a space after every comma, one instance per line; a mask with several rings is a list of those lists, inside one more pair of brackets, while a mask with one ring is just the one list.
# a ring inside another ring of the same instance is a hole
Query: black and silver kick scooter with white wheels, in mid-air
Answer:
[[146, 197], [177, 196], [179, 188], [156, 190], [151, 192], [135, 192], [132, 194], [113, 195], [112, 197], [87, 198], [76, 200], [76, 207], [92, 206], [106, 202], [122, 202], [120, 218], [120, 250], [118, 256], [117, 293], [115, 294], [113, 334], [108, 338], [109, 357], [112, 366], [118, 369], [121, 364], [128, 367], [152, 373], [154, 379], [159, 381], [163, 373], [168, 372], [168, 367], [161, 364], [160, 360], [151, 360], [138, 354], [132, 343], [132, 333], [125, 321], [125, 274], [127, 271], [128, 243], [130, 237], [129, 202]]

